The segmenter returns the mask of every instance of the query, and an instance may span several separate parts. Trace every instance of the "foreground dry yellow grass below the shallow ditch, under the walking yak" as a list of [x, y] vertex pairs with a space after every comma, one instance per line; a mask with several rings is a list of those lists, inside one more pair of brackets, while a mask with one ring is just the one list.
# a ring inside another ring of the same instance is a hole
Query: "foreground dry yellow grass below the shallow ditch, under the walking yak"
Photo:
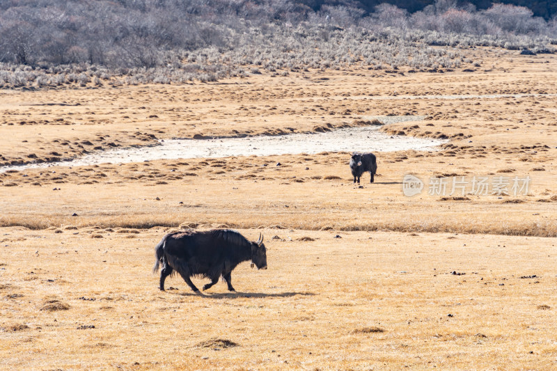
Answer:
[[241, 232], [269, 269], [196, 295], [150, 274], [163, 228], [3, 228], [0, 368], [556, 367], [555, 239]]

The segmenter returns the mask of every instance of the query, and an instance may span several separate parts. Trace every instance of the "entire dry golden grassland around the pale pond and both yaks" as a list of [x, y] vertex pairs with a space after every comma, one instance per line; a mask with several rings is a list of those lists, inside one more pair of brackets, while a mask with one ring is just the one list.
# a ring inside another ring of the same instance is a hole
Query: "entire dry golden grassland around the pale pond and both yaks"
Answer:
[[[334, 152], [0, 174], [0, 368], [556, 368], [557, 57], [470, 54], [475, 72], [1, 90], [0, 164], [377, 115], [427, 116], [382, 130], [449, 143], [378, 153], [362, 188]], [[409, 173], [426, 182], [412, 198]], [[531, 182], [516, 197], [427, 194], [453, 176]], [[153, 247], [180, 226], [262, 231], [269, 269], [241, 265], [235, 294], [176, 277], [159, 292]]]

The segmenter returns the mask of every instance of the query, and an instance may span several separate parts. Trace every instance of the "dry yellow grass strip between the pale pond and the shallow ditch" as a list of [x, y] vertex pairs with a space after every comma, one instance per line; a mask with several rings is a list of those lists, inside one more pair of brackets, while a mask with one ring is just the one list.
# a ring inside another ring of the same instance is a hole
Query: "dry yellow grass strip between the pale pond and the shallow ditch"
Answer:
[[[432, 173], [444, 171], [470, 180], [496, 173], [501, 164], [490, 160], [476, 166], [467, 156], [409, 155], [404, 161], [389, 160], [396, 154], [379, 156], [381, 176], [369, 184], [364, 175], [362, 189], [352, 184], [347, 154], [239, 157], [227, 159], [226, 165], [220, 159], [196, 159], [187, 160], [188, 165], [176, 160], [24, 171], [8, 175], [17, 187], [1, 188], [0, 226], [149, 228], [195, 222], [234, 228], [557, 236], [557, 202], [552, 199], [557, 194], [556, 166], [549, 161], [544, 164], [548, 171], [532, 172], [532, 164], [499, 155], [512, 162], [513, 175], [531, 177], [528, 195], [444, 200], [428, 195], [427, 185], [421, 195], [404, 196], [402, 178], [411, 172], [427, 181]], [[282, 165], [275, 166], [277, 162]], [[223, 173], [215, 175], [214, 169]], [[183, 175], [192, 172], [197, 176]], [[342, 178], [324, 179], [334, 174]]]

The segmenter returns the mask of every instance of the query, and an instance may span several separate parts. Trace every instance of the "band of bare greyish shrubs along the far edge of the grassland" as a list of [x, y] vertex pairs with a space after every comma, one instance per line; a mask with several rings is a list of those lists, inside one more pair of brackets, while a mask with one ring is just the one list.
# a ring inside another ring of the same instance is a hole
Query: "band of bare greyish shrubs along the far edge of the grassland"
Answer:
[[556, 19], [545, 22], [528, 8], [500, 3], [476, 11], [437, 0], [411, 15], [389, 4], [370, 14], [352, 2], [316, 11], [288, 1], [211, 4], [8, 2], [0, 6], [0, 83], [180, 84], [244, 77], [242, 67], [252, 74], [350, 65], [454, 68], [470, 63], [460, 48], [544, 50], [557, 43]]

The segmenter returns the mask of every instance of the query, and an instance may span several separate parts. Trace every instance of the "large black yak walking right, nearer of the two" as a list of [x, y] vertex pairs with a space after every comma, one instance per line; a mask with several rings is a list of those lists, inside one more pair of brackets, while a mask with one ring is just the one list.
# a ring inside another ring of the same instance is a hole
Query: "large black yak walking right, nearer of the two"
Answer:
[[191, 276], [210, 278], [210, 288], [223, 277], [228, 290], [235, 291], [230, 283], [230, 274], [241, 262], [251, 260], [251, 267], [267, 269], [267, 249], [260, 235], [257, 242], [251, 242], [235, 230], [206, 230], [197, 232], [169, 233], [155, 246], [155, 267], [157, 273], [162, 265], [159, 288], [164, 291], [164, 280], [175, 271], [184, 278], [191, 290], [198, 288], [191, 282]]

